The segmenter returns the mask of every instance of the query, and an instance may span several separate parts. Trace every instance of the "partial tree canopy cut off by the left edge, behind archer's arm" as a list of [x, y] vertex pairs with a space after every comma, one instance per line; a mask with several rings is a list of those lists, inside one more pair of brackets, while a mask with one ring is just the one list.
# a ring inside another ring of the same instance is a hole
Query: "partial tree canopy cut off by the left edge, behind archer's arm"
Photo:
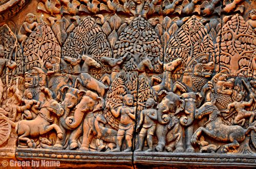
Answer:
[[11, 29], [5, 24], [0, 27], [0, 44], [5, 48], [5, 58], [16, 62], [17, 67], [9, 75], [23, 75], [23, 54], [22, 48]]

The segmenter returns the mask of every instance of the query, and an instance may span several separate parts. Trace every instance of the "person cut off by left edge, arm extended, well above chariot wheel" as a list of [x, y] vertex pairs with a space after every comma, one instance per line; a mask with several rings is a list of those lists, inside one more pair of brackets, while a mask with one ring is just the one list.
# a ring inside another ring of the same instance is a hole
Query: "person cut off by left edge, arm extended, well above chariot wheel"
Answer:
[[[14, 69], [17, 64], [11, 60], [5, 59], [5, 48], [3, 45], [0, 45], [0, 77], [2, 77], [5, 67], [9, 69]], [[0, 78], [0, 104], [2, 102], [2, 97], [4, 94], [4, 84]]]

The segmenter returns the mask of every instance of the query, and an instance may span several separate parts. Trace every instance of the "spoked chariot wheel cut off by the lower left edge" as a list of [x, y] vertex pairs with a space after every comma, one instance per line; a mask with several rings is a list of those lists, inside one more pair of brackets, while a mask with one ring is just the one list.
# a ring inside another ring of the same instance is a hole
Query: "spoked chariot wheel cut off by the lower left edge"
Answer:
[[0, 146], [6, 142], [11, 133], [11, 124], [6, 118], [0, 117]]

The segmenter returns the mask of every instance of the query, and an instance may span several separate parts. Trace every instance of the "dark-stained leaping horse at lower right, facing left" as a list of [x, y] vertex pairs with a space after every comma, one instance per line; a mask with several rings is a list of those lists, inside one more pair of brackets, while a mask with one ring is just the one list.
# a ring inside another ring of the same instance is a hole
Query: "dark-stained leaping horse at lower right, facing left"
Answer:
[[215, 105], [216, 100], [205, 102], [197, 111], [195, 118], [200, 120], [204, 116], [209, 115], [205, 127], [199, 127], [191, 137], [191, 143], [198, 143], [199, 137], [205, 135], [214, 138], [221, 142], [229, 142], [222, 148], [222, 152], [226, 153], [230, 150], [239, 148], [240, 144], [245, 139], [245, 136], [252, 130], [256, 132], [256, 127], [250, 126], [244, 129], [241, 126], [228, 126], [222, 122], [220, 110]]

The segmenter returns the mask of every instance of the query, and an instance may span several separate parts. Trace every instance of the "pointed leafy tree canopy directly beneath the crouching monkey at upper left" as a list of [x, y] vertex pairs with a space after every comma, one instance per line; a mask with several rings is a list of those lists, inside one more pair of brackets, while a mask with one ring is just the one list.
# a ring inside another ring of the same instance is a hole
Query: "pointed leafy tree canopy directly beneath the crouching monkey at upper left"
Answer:
[[45, 63], [51, 61], [52, 57], [60, 58], [60, 50], [51, 27], [45, 22], [38, 23], [24, 46], [25, 71], [33, 67], [44, 68]]

